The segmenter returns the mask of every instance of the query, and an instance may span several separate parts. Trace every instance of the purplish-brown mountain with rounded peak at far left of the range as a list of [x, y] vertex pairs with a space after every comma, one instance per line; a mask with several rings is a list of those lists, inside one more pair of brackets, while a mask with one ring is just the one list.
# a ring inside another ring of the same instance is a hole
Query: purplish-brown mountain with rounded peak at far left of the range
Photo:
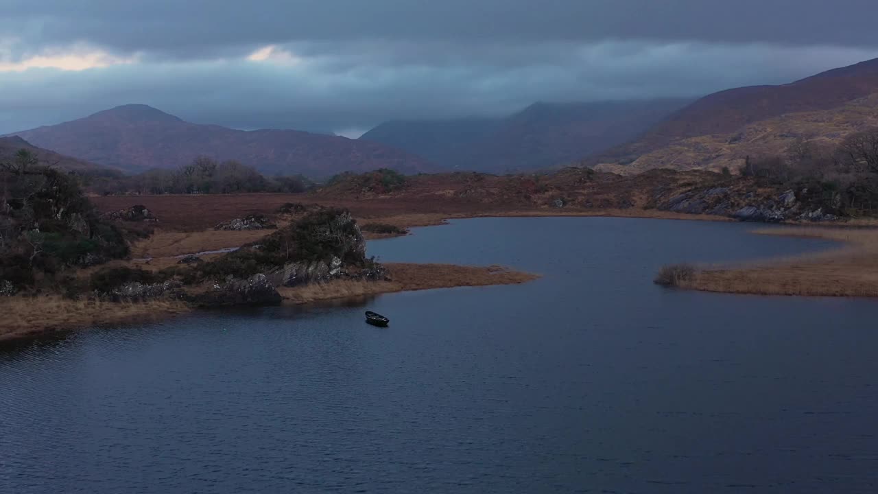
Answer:
[[242, 131], [193, 124], [148, 105], [15, 133], [38, 146], [127, 171], [175, 168], [199, 155], [237, 160], [266, 174], [327, 177], [341, 171], [429, 171], [420, 156], [375, 142], [296, 130]]

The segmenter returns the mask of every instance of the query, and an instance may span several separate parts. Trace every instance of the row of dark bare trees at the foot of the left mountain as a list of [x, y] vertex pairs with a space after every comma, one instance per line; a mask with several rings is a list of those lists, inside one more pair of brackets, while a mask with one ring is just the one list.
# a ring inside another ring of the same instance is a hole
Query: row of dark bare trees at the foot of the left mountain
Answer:
[[313, 183], [300, 175], [266, 177], [237, 161], [198, 156], [176, 170], [152, 169], [132, 176], [90, 177], [90, 192], [113, 194], [302, 193]]

